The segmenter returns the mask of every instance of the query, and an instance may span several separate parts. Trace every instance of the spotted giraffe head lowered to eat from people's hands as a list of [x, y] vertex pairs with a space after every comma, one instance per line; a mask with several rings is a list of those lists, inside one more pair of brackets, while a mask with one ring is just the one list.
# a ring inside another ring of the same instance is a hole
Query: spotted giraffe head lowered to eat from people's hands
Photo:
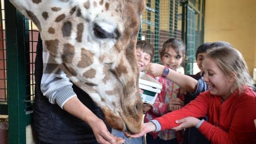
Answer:
[[142, 126], [135, 46], [145, 0], [10, 0], [71, 81], [118, 130]]

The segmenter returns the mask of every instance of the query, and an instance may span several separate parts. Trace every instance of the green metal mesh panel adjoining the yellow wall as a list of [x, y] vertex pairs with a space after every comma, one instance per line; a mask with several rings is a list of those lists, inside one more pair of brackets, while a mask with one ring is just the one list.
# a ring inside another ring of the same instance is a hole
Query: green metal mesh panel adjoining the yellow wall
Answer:
[[182, 0], [182, 39], [186, 44], [185, 73], [193, 74], [195, 52], [203, 43], [205, 0]]

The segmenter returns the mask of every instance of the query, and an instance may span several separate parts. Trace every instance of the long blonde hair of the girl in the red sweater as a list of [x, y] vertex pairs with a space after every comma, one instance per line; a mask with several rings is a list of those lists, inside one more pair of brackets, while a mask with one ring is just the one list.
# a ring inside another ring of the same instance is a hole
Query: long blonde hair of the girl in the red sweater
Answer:
[[245, 86], [254, 88], [247, 64], [242, 54], [235, 48], [229, 46], [212, 48], [207, 51], [206, 57], [213, 59], [226, 76], [234, 78], [231, 92], [239, 89], [241, 94]]

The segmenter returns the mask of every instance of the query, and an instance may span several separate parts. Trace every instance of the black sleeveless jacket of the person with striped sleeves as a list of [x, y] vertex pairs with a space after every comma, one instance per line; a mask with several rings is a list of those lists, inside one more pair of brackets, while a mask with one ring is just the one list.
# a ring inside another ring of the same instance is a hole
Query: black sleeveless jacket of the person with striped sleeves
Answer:
[[[40, 89], [43, 75], [42, 53], [42, 40], [39, 35], [35, 59], [35, 98], [33, 107], [33, 128], [39, 140], [53, 144], [97, 143], [89, 125], [62, 110], [57, 104], [51, 104], [48, 98], [43, 96]], [[102, 110], [88, 94], [76, 85], [73, 85], [73, 89], [78, 99], [104, 121]], [[111, 131], [107, 124], [106, 126]]]

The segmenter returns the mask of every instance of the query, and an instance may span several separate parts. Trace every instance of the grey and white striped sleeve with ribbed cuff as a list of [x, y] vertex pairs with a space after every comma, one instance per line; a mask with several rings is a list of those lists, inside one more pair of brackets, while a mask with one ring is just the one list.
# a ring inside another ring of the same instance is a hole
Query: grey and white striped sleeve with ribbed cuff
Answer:
[[76, 96], [72, 85], [70, 79], [59, 68], [43, 44], [43, 76], [41, 80], [43, 95], [49, 99], [49, 102], [57, 103], [63, 109], [63, 105]]

